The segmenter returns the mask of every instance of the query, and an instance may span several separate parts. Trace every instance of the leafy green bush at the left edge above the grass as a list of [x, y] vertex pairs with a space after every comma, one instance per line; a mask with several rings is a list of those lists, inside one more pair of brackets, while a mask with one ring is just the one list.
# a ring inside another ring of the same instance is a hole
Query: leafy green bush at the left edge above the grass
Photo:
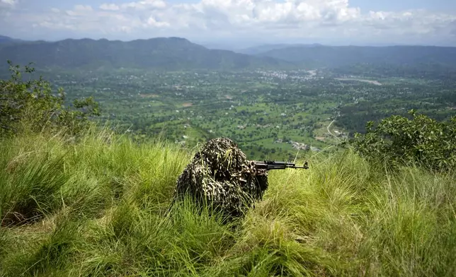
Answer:
[[93, 98], [74, 100], [73, 107], [64, 107], [62, 88], [52, 94], [50, 83], [42, 76], [38, 80], [23, 81], [22, 75], [31, 74], [33, 67], [14, 66], [8, 61], [11, 78], [0, 80], [0, 135], [30, 131], [62, 130], [77, 134], [89, 125], [89, 117], [98, 116], [98, 103]]

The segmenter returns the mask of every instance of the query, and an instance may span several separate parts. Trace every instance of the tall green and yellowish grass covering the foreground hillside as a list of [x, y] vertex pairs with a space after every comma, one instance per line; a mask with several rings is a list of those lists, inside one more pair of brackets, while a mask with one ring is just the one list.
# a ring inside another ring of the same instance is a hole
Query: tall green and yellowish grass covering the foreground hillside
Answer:
[[[0, 143], [0, 276], [455, 276], [456, 174], [351, 151], [270, 172], [234, 226], [184, 203], [191, 153], [109, 131]], [[26, 223], [26, 224], [25, 224]]]

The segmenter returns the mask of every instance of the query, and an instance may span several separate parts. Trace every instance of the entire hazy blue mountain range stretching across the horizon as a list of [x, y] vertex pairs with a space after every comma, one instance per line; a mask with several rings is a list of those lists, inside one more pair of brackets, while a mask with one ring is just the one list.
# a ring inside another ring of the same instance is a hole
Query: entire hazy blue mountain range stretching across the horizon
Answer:
[[[233, 52], [208, 49], [179, 37], [149, 40], [14, 40], [0, 36], [0, 60], [34, 62], [37, 68], [156, 70], [240, 70], [400, 64], [456, 67], [456, 47], [261, 45]], [[6, 64], [6, 62], [4, 63]], [[0, 64], [0, 66], [2, 66]]]

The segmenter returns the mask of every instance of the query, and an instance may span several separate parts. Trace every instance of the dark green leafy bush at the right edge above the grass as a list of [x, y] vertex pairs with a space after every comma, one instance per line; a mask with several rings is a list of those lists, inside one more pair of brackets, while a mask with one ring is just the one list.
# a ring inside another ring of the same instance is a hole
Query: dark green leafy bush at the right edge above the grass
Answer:
[[366, 134], [355, 134], [355, 149], [370, 160], [384, 159], [397, 167], [415, 163], [431, 170], [456, 167], [456, 117], [437, 122], [424, 114], [409, 112], [412, 119], [393, 115], [374, 129], [367, 122]]

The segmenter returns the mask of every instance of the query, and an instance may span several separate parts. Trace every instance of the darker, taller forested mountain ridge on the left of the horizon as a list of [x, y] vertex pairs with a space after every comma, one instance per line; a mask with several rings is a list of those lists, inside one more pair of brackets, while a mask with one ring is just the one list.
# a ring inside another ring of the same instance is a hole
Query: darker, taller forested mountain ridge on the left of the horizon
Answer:
[[35, 63], [37, 69], [276, 69], [291, 64], [270, 57], [253, 57], [227, 50], [207, 49], [178, 37], [150, 40], [61, 40], [20, 42], [0, 47], [0, 60]]

